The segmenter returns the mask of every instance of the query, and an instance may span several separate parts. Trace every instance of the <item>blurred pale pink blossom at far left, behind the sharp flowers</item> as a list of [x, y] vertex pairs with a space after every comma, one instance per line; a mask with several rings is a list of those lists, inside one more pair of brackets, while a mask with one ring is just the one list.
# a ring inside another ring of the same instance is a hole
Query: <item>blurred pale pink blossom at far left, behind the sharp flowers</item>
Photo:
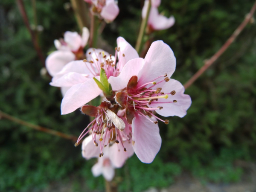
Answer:
[[67, 31], [64, 39], [55, 40], [54, 44], [57, 51], [52, 52], [46, 59], [46, 68], [53, 77], [70, 61], [84, 58], [84, 47], [89, 38], [89, 30], [84, 27], [80, 36], [77, 32]]

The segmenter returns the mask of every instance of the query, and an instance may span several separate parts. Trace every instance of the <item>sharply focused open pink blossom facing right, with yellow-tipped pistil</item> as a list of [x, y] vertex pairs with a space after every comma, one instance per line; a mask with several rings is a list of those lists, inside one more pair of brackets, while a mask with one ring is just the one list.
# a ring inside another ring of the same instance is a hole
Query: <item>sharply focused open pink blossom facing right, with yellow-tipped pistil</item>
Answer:
[[191, 105], [182, 84], [169, 79], [175, 67], [172, 49], [163, 41], [155, 41], [145, 59], [128, 61], [119, 76], [109, 78], [113, 91], [117, 91], [116, 102], [125, 108], [125, 118], [132, 126], [134, 152], [144, 163], [151, 163], [161, 146], [156, 119], [169, 123], [153, 112], [183, 117]]

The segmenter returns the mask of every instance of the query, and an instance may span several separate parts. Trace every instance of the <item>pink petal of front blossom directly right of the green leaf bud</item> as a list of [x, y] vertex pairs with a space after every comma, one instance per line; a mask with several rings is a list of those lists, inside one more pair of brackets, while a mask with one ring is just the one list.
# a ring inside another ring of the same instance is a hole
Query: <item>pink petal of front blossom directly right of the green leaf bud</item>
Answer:
[[128, 81], [132, 76], [137, 76], [140, 69], [143, 67], [144, 59], [143, 58], [135, 58], [128, 61], [123, 67], [123, 70], [117, 77], [111, 76], [108, 81], [112, 86], [113, 90], [121, 90], [125, 88], [128, 84]]

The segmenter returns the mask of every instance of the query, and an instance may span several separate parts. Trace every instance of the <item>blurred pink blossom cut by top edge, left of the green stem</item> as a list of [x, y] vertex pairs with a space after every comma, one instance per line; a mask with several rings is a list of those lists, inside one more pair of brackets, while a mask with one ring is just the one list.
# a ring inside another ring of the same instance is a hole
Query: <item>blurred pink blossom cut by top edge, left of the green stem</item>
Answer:
[[117, 1], [115, 0], [84, 0], [91, 4], [91, 12], [98, 15], [100, 19], [106, 22], [112, 22], [119, 14]]

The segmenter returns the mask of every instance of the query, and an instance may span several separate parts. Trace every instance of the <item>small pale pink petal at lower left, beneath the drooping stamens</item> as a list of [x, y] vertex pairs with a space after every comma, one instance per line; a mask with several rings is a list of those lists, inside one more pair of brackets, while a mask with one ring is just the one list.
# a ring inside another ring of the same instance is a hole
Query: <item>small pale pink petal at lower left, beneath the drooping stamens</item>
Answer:
[[82, 143], [82, 156], [89, 160], [93, 157], [99, 157], [100, 154], [100, 148], [99, 146], [96, 147], [93, 143], [93, 137], [92, 135], [89, 135], [83, 140]]

